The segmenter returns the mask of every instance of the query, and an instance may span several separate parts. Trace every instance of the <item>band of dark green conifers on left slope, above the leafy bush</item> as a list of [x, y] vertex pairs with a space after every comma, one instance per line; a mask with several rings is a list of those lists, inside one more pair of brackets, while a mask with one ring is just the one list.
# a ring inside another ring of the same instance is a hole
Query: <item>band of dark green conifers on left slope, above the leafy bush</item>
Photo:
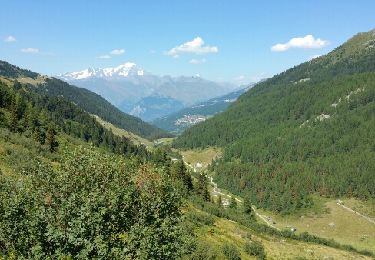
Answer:
[[108, 150], [148, 158], [142, 145], [133, 145], [124, 137], [103, 128], [89, 113], [63, 97], [50, 97], [35, 92], [35, 87], [17, 81], [6, 85], [0, 81], [0, 110], [7, 119], [4, 126], [12, 132], [32, 132], [34, 140], [47, 144], [51, 152], [58, 147], [56, 135], [65, 132], [73, 137], [103, 146]]

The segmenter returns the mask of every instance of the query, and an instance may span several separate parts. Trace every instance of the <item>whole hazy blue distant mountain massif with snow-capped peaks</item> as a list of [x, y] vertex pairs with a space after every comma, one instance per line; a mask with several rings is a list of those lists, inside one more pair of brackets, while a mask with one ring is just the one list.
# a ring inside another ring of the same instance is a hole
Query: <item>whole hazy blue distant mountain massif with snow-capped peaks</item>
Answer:
[[177, 112], [181, 106], [191, 106], [238, 89], [237, 85], [206, 80], [199, 75], [153, 75], [132, 62], [113, 68], [68, 72], [57, 77], [87, 88], [122, 111], [147, 121]]

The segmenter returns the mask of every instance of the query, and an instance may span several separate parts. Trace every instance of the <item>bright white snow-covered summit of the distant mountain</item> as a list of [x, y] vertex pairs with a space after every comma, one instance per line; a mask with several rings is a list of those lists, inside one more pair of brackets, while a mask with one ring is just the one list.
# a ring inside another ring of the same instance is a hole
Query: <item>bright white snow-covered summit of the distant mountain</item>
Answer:
[[88, 68], [77, 72], [68, 72], [59, 75], [66, 81], [81, 80], [88, 78], [126, 78], [129, 76], [143, 76], [144, 70], [137, 67], [135, 63], [127, 62], [114, 68]]

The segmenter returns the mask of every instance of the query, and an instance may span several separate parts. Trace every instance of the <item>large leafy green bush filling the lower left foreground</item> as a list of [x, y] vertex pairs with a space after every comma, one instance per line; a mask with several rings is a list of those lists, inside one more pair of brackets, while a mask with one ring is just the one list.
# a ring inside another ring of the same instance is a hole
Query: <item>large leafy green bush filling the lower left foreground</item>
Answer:
[[23, 177], [1, 175], [0, 255], [18, 259], [175, 259], [181, 196], [167, 175], [114, 155], [65, 152]]

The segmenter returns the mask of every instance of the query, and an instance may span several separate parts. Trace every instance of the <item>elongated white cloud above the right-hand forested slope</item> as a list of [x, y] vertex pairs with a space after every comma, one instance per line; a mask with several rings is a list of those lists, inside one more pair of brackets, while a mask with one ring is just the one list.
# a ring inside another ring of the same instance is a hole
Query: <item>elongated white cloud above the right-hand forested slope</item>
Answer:
[[327, 46], [328, 41], [320, 38], [315, 39], [312, 35], [306, 35], [305, 37], [297, 37], [290, 39], [287, 43], [278, 43], [271, 47], [271, 51], [287, 51], [291, 48], [302, 48], [302, 49], [319, 49]]

